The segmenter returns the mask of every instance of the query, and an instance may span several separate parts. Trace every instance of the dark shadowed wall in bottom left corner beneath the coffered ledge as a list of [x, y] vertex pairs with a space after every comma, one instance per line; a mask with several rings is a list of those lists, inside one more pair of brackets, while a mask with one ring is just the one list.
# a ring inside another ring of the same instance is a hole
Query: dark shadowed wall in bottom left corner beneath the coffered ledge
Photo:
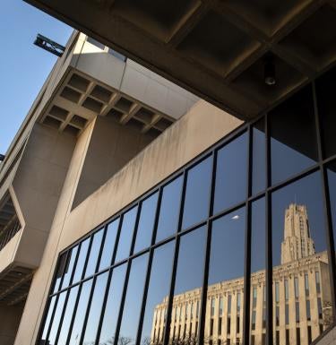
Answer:
[[0, 344], [13, 345], [15, 334], [22, 316], [23, 304], [18, 306], [0, 305]]

